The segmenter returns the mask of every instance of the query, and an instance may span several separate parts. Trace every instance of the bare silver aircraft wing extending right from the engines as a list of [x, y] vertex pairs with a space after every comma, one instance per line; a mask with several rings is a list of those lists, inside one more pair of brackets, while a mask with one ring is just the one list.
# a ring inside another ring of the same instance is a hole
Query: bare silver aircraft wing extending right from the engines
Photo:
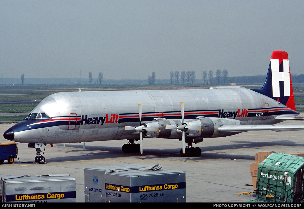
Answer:
[[246, 132], [246, 131], [303, 131], [304, 125], [222, 125], [218, 132]]

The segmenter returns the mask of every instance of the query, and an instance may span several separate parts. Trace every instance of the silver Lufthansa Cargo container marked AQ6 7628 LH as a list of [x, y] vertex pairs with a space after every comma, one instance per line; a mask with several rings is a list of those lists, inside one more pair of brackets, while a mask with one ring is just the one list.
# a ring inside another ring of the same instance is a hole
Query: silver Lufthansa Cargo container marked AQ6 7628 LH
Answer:
[[186, 202], [186, 174], [178, 170], [105, 173], [106, 202]]

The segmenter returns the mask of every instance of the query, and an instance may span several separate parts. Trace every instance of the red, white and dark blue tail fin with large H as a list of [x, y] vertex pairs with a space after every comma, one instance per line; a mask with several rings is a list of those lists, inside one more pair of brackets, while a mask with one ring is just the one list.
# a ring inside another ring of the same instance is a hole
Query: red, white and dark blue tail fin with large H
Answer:
[[288, 54], [285, 51], [273, 51], [266, 81], [261, 89], [252, 89], [295, 110]]

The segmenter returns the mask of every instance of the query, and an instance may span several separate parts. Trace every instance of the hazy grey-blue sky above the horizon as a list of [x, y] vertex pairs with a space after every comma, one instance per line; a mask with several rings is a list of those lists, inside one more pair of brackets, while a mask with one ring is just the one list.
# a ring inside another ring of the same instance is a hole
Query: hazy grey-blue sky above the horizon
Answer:
[[4, 78], [266, 74], [273, 50], [304, 74], [304, 1], [0, 1]]

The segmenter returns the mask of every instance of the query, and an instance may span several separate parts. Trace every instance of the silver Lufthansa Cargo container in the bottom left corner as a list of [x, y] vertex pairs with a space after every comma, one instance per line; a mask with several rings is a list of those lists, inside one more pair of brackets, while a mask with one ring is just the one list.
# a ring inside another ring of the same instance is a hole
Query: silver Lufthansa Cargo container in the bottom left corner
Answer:
[[76, 183], [70, 174], [1, 178], [1, 202], [75, 202]]

